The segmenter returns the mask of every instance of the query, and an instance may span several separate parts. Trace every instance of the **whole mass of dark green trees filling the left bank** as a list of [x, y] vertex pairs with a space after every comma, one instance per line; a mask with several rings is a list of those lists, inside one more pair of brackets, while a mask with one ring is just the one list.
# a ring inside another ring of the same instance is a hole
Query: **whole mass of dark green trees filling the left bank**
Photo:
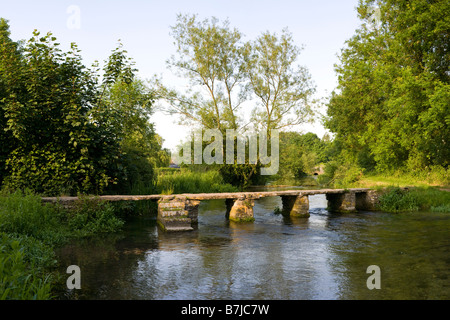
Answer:
[[82, 63], [38, 31], [24, 45], [0, 20], [0, 183], [45, 195], [127, 193], [168, 162], [149, 122], [153, 97], [121, 45]]

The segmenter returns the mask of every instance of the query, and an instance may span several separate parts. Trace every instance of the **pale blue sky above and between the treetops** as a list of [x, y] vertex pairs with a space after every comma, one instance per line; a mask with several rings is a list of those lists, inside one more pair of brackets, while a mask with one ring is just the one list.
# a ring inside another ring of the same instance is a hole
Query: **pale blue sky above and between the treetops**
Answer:
[[[9, 20], [14, 40], [29, 39], [34, 29], [51, 31], [63, 49], [76, 42], [86, 65], [103, 62], [121, 39], [135, 60], [139, 76], [149, 79], [154, 74], [170, 79], [165, 61], [175, 53], [170, 26], [177, 13], [198, 14], [201, 19], [229, 19], [245, 39], [261, 32], [281, 32], [288, 27], [298, 45], [304, 45], [299, 63], [306, 66], [317, 86], [318, 96], [328, 96], [336, 86], [333, 65], [337, 54], [360, 25], [358, 0], [194, 0], [194, 1], [119, 1], [119, 0], [55, 0], [0, 1], [0, 17]], [[70, 29], [69, 6], [80, 9], [80, 28]], [[156, 114], [157, 132], [165, 139], [165, 147], [173, 148], [185, 138], [186, 128], [173, 119]], [[300, 128], [322, 137], [320, 124]]]

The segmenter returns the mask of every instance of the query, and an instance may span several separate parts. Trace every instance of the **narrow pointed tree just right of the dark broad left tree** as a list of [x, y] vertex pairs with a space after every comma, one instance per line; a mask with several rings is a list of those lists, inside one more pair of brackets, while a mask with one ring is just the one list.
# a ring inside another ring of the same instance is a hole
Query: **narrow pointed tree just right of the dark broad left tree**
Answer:
[[167, 151], [161, 148], [162, 138], [150, 123], [153, 94], [137, 78], [134, 61], [127, 56], [120, 42], [103, 70], [102, 94], [96, 118], [111, 128], [111, 134], [123, 152], [125, 170], [120, 190], [128, 192], [137, 185], [145, 185], [145, 192], [152, 192], [155, 182], [153, 168], [168, 162]]

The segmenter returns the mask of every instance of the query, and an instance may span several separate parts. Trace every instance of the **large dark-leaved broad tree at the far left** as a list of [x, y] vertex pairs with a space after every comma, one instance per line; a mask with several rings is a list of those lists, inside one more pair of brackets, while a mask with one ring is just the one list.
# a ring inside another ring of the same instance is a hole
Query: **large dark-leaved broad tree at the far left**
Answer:
[[[1, 47], [11, 47], [3, 38]], [[12, 51], [11, 51], [12, 52]], [[1, 61], [4, 130], [12, 139], [6, 182], [47, 194], [101, 192], [115, 180], [115, 140], [97, 127], [90, 112], [96, 79], [75, 44], [62, 52], [48, 33], [33, 37]]]

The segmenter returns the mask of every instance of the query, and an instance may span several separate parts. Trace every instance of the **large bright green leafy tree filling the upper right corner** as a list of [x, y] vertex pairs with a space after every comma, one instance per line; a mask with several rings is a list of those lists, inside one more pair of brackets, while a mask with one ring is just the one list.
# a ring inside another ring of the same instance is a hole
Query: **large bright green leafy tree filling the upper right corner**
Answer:
[[368, 167], [448, 167], [449, 2], [361, 0], [358, 14], [363, 23], [336, 67], [327, 126]]

